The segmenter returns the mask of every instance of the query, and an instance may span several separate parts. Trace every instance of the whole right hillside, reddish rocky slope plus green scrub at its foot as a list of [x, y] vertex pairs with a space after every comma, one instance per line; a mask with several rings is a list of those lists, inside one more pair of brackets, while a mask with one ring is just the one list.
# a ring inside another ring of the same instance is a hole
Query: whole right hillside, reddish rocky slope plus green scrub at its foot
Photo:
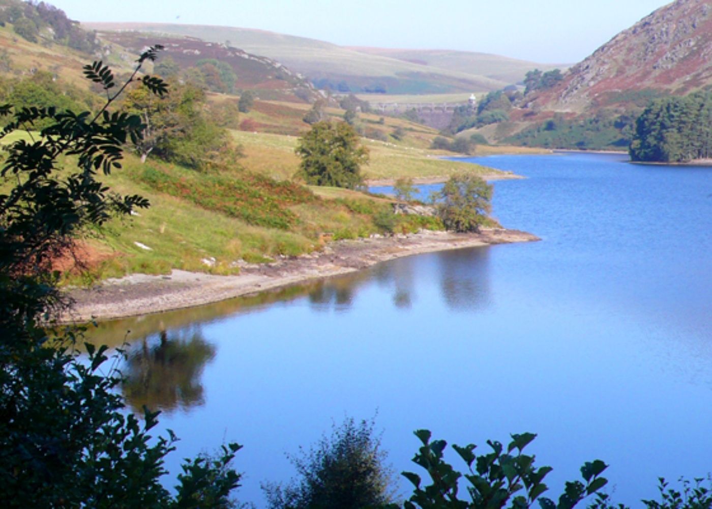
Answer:
[[532, 147], [627, 150], [636, 119], [651, 101], [712, 86], [711, 56], [712, 0], [677, 0], [614, 36], [550, 86], [528, 87], [506, 121], [467, 133]]

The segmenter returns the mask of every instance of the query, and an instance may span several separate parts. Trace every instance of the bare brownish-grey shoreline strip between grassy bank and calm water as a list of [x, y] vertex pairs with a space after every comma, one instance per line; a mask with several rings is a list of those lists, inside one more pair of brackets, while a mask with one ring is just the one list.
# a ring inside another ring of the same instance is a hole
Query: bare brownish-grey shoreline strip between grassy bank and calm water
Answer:
[[132, 274], [108, 279], [88, 289], [70, 289], [67, 294], [73, 305], [61, 323], [104, 322], [199, 307], [348, 274], [400, 257], [537, 240], [539, 237], [518, 230], [491, 229], [468, 234], [424, 231], [413, 235], [341, 240], [309, 255], [280, 257], [268, 264], [244, 264], [241, 274], [236, 276], [177, 269], [169, 275]]

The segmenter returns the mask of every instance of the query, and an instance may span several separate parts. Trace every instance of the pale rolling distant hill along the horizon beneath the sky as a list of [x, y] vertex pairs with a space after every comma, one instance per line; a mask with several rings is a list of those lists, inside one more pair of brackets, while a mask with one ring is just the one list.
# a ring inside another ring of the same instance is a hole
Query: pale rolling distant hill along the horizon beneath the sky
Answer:
[[318, 86], [328, 84], [341, 92], [487, 92], [521, 81], [526, 71], [534, 68], [552, 68], [483, 53], [347, 48], [310, 38], [226, 26], [149, 23], [83, 26], [102, 32], [158, 32], [224, 43], [283, 63]]

